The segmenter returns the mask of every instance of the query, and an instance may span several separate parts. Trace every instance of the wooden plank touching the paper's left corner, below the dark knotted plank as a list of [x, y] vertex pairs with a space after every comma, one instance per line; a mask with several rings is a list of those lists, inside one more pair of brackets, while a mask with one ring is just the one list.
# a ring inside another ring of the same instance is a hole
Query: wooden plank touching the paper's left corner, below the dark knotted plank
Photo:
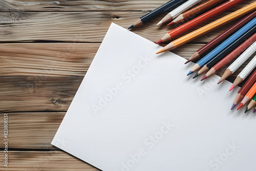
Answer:
[[[8, 148], [59, 150], [51, 142], [65, 114], [66, 112], [8, 113]], [[0, 115], [0, 123], [4, 125], [3, 114]], [[4, 134], [0, 134], [0, 138], [5, 139]], [[0, 148], [4, 148], [3, 143]]]

